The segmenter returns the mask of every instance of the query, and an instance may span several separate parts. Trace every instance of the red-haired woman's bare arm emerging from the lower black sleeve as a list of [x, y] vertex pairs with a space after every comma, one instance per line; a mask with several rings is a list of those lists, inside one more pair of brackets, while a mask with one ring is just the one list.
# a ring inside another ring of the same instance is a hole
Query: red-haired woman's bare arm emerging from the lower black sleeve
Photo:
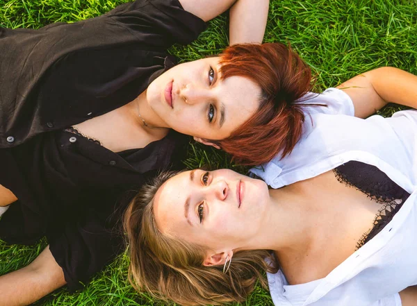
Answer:
[[28, 266], [0, 276], [0, 305], [29, 305], [64, 284], [63, 269], [47, 246]]

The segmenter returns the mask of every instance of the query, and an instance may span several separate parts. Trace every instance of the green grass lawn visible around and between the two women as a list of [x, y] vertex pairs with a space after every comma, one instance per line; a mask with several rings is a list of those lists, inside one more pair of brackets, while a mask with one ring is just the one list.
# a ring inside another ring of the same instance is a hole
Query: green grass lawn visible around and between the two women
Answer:
[[[0, 0], [0, 26], [40, 28], [52, 22], [76, 22], [101, 15], [126, 0]], [[416, 0], [271, 0], [265, 42], [289, 42], [313, 67], [316, 90], [376, 67], [390, 65], [417, 74]], [[190, 46], [174, 46], [180, 60], [195, 60], [227, 46], [227, 16], [210, 23]], [[390, 105], [381, 114], [399, 110]], [[188, 167], [210, 164], [233, 167], [224, 153], [190, 146]], [[46, 245], [6, 246], [0, 242], [0, 275], [25, 266]], [[121, 255], [83, 290], [60, 289], [34, 305], [160, 305], [136, 294], [126, 281], [128, 260]], [[244, 305], [272, 305], [267, 291], [257, 288]]]

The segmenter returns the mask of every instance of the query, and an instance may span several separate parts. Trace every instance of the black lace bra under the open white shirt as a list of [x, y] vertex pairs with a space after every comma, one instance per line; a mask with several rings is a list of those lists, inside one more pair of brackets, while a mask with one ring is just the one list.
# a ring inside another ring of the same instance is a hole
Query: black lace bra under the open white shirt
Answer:
[[375, 237], [393, 219], [410, 194], [395, 184], [384, 172], [370, 164], [350, 161], [333, 171], [339, 182], [358, 189], [373, 201], [381, 204], [373, 227], [363, 233], [357, 242], [358, 249]]

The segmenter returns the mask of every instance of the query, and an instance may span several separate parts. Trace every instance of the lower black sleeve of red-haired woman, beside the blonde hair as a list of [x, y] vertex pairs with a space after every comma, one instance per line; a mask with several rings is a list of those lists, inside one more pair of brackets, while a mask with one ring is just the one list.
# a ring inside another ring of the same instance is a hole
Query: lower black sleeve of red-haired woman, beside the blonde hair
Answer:
[[[102, 201], [101, 201], [102, 199]], [[110, 264], [124, 250], [122, 207], [98, 203], [103, 209], [89, 207], [72, 220], [47, 232], [54, 259], [63, 269], [70, 291], [81, 289], [90, 278]], [[88, 203], [85, 203], [88, 205]], [[70, 219], [70, 218], [68, 218]]]

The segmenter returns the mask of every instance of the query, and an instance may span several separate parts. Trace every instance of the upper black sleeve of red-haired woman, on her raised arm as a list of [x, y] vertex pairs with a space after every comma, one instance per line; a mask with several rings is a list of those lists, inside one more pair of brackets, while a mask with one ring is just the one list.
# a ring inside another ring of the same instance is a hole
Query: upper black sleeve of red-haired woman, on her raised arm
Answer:
[[206, 28], [199, 17], [183, 10], [178, 0], [137, 0], [112, 10], [109, 15], [133, 35], [147, 35], [155, 46], [189, 44]]

